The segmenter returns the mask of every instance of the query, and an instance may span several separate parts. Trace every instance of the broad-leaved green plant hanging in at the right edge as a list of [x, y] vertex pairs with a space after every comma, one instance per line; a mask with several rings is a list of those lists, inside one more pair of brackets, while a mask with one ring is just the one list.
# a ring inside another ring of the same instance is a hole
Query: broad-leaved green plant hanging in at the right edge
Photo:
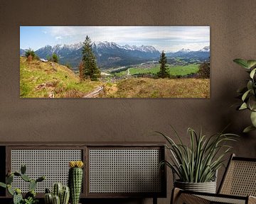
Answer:
[[247, 85], [238, 90], [242, 99], [238, 110], [249, 110], [252, 121], [252, 125], [245, 128], [243, 132], [250, 132], [251, 130], [256, 130], [256, 60], [235, 59], [233, 61], [247, 69], [247, 73], [250, 75], [247, 79]]

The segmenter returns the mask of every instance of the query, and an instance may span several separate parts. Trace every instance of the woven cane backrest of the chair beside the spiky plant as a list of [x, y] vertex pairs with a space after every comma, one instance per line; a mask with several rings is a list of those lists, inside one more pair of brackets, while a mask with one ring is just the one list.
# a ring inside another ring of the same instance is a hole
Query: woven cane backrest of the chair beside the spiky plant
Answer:
[[218, 193], [256, 196], [256, 159], [231, 155]]

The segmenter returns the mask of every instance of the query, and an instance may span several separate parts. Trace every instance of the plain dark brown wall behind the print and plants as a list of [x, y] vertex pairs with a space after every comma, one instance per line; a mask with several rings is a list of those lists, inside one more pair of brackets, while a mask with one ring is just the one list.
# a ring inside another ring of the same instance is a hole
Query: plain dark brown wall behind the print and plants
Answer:
[[[255, 132], [241, 133], [249, 115], [231, 107], [246, 76], [233, 59], [256, 58], [255, 11], [255, 0], [0, 0], [0, 141], [158, 141], [150, 131], [169, 124], [188, 141], [188, 127], [231, 123], [233, 152], [256, 157]], [[19, 98], [19, 26], [210, 26], [210, 99]]]

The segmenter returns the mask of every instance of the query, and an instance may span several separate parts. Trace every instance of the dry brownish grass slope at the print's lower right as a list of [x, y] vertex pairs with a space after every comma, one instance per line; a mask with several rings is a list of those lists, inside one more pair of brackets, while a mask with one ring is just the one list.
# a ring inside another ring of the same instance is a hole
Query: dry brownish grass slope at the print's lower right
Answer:
[[210, 98], [210, 79], [124, 79], [108, 97]]

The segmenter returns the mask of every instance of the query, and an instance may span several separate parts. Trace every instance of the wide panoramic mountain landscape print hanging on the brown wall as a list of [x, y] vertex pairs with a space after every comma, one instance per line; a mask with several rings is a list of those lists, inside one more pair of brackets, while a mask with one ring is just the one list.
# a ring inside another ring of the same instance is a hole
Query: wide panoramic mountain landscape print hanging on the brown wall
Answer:
[[21, 98], [210, 98], [209, 26], [21, 26]]

